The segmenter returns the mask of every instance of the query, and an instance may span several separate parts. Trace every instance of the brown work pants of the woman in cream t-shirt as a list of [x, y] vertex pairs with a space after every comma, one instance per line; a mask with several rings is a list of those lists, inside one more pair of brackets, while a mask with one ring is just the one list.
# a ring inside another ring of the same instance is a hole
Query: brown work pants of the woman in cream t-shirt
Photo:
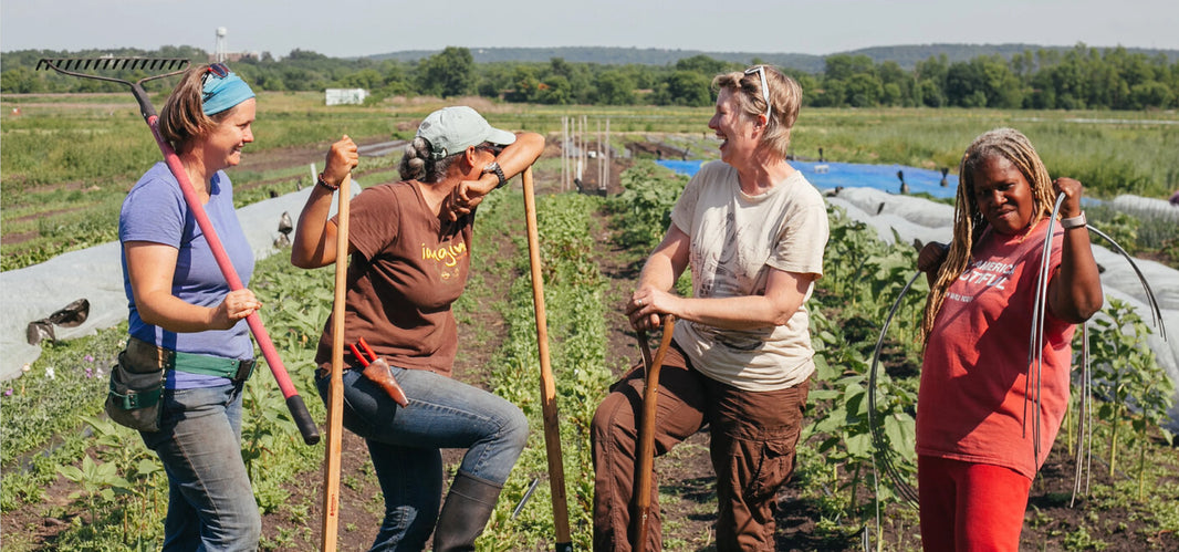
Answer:
[[[591, 427], [595, 551], [630, 551], [635, 484], [638, 419], [643, 412], [641, 364], [611, 386]], [[810, 382], [773, 392], [746, 392], [691, 368], [668, 350], [656, 401], [656, 456], [710, 426], [717, 473], [717, 550], [775, 550], [778, 487], [790, 478]], [[659, 485], [652, 475], [647, 550], [661, 547]]]

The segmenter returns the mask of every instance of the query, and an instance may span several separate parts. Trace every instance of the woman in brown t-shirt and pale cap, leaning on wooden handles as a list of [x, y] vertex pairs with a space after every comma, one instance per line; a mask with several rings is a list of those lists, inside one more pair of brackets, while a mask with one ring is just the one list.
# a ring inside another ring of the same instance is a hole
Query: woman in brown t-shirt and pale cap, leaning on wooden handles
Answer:
[[[407, 145], [403, 180], [365, 189], [350, 203], [344, 342], [363, 337], [408, 397], [399, 405], [362, 370], [344, 370], [344, 427], [368, 442], [384, 494], [373, 548], [422, 550], [434, 531], [434, 550], [473, 550], [523, 449], [528, 422], [518, 407], [450, 379], [459, 344], [450, 305], [467, 283], [476, 205], [535, 162], [544, 145], [540, 134], [492, 127], [470, 107], [446, 107]], [[331, 197], [357, 159], [347, 136], [332, 144], [299, 216], [295, 265], [335, 261]], [[329, 318], [316, 354], [321, 367], [331, 361], [330, 328]], [[345, 361], [360, 367], [351, 355]], [[324, 374], [316, 377], [321, 395]], [[439, 513], [441, 448], [467, 454]]]

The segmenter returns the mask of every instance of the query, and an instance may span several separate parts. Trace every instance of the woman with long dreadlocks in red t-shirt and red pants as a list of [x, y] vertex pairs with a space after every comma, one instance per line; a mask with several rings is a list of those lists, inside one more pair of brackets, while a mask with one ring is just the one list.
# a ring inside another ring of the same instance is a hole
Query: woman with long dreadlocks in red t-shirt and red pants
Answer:
[[[930, 243], [917, 258], [930, 282], [917, 394], [922, 544], [1014, 551], [1032, 478], [1068, 405], [1074, 324], [1101, 308], [1101, 281], [1081, 183], [1053, 180], [1026, 136], [1013, 129], [980, 136], [959, 173], [954, 242]], [[1059, 193], [1035, 363], [1029, 335]]]

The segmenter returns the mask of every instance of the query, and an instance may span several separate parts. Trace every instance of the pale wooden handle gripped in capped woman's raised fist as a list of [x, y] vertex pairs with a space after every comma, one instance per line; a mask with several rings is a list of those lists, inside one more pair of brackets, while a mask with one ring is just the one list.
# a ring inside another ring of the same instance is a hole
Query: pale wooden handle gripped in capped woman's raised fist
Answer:
[[340, 183], [336, 217], [336, 294], [331, 305], [331, 376], [328, 380], [328, 446], [323, 462], [323, 535], [320, 550], [336, 550], [340, 528], [340, 453], [344, 426], [344, 297], [348, 291], [349, 173]]

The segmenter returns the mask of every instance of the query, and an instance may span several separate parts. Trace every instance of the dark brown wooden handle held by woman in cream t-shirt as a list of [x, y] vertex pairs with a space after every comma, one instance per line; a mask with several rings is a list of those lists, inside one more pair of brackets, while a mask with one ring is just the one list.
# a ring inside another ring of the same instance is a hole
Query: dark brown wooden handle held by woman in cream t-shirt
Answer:
[[[651, 480], [656, 464], [656, 399], [659, 396], [659, 368], [663, 366], [667, 349], [671, 347], [672, 330], [676, 317], [664, 315], [664, 335], [659, 341], [656, 357], [646, 366], [647, 380], [643, 389], [643, 418], [639, 420], [639, 449], [635, 461], [634, 482], [634, 543], [631, 548], [644, 552], [647, 547], [647, 521], [651, 514]], [[639, 331], [639, 344], [647, 349], [647, 334]], [[644, 355], [644, 362], [650, 359], [650, 349]]]

